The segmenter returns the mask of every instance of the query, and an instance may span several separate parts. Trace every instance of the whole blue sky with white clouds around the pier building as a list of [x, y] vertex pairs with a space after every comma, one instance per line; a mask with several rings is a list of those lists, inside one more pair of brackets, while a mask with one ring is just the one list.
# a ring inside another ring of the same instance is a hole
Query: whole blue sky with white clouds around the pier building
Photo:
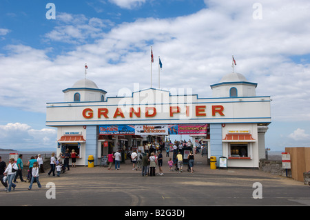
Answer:
[[[56, 19], [47, 19], [48, 3]], [[149, 87], [149, 47], [163, 62], [161, 88], [209, 85], [231, 72], [270, 95], [266, 146], [310, 142], [310, 14], [307, 0], [3, 0], [0, 3], [0, 148], [54, 148], [45, 103], [63, 101], [84, 77], [116, 96]], [[155, 78], [155, 77], [154, 77]], [[157, 84], [154, 79], [154, 85]]]

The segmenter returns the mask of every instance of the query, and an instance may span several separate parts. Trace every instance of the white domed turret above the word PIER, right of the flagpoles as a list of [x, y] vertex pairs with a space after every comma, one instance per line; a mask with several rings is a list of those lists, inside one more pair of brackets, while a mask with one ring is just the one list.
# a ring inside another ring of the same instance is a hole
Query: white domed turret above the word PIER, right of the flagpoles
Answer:
[[257, 83], [250, 83], [238, 72], [226, 74], [219, 83], [211, 85], [213, 97], [255, 97]]

